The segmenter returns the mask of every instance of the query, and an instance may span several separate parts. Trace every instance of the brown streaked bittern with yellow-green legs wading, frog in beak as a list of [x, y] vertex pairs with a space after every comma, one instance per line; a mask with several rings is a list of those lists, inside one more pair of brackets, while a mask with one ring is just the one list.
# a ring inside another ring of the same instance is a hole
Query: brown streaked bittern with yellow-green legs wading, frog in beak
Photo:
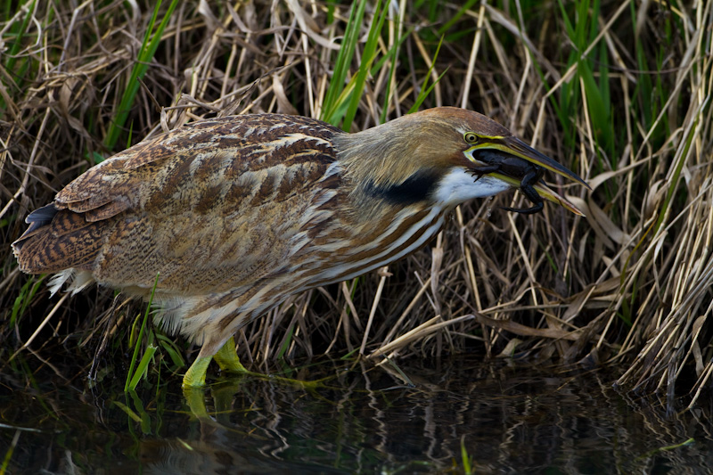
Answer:
[[[570, 169], [475, 111], [437, 107], [347, 133], [317, 119], [200, 119], [89, 168], [26, 217], [20, 269], [50, 291], [93, 283], [152, 294], [154, 322], [244, 372], [234, 334], [300, 291], [339, 283], [422, 248], [463, 202], [510, 188], [553, 201], [545, 170]], [[534, 210], [533, 210], [534, 209]]]

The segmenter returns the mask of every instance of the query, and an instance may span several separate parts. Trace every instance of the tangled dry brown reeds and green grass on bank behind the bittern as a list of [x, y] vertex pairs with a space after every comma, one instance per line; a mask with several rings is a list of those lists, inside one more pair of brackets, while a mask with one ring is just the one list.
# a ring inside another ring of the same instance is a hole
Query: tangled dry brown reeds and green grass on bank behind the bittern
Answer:
[[[586, 218], [499, 209], [522, 205], [516, 192], [473, 202], [414, 257], [251, 324], [244, 359], [614, 364], [627, 389], [691, 404], [711, 384], [710, 2], [362, 2], [351, 23], [348, 2], [164, 2], [155, 21], [144, 3], [61, 4], [5, 6], [0, 24], [0, 359], [102, 342], [106, 361], [136, 339], [141, 306], [106, 289], [49, 299], [9, 248], [29, 210], [96, 160], [215, 115], [356, 131], [422, 101], [482, 111], [575, 170], [593, 192], [559, 191]], [[173, 367], [189, 348], [158, 329], [146, 339]]]

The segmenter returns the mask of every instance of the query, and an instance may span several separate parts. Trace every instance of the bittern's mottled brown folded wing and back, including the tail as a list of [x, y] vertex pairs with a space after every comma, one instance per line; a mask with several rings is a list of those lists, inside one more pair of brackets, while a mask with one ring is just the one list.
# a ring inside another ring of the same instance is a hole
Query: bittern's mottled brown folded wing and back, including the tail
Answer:
[[117, 287], [143, 287], [161, 272], [168, 287], [194, 291], [274, 271], [266, 263], [279, 261], [316, 199], [339, 132], [256, 115], [139, 143], [61, 190], [51, 221], [45, 211], [29, 216], [36, 225], [15, 244], [20, 266], [88, 270]]

